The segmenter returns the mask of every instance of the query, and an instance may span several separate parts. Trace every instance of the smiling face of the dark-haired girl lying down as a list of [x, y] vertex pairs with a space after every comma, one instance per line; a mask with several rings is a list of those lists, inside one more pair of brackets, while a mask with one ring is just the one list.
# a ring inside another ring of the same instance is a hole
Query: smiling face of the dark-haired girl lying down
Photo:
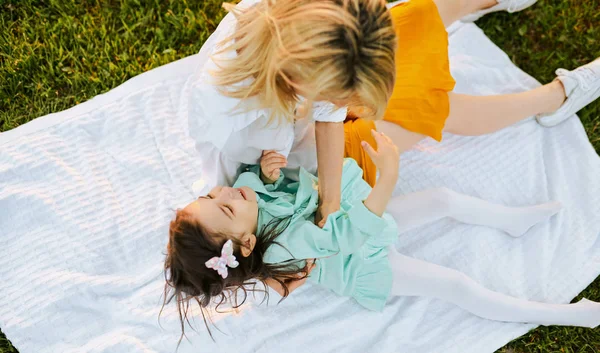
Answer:
[[206, 196], [199, 197], [184, 208], [202, 227], [216, 234], [217, 243], [233, 239], [243, 244], [242, 254], [248, 256], [256, 243], [258, 227], [258, 202], [254, 190], [243, 186], [230, 188], [217, 186]]

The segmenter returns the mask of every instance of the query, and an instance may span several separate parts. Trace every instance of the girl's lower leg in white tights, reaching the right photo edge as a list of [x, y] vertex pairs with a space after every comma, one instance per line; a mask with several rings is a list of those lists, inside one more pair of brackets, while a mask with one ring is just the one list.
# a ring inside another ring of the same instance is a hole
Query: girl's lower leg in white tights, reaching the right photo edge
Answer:
[[399, 254], [390, 248], [392, 295], [426, 296], [453, 303], [482, 318], [538, 325], [596, 327], [600, 303], [546, 304], [491, 291], [465, 274]]

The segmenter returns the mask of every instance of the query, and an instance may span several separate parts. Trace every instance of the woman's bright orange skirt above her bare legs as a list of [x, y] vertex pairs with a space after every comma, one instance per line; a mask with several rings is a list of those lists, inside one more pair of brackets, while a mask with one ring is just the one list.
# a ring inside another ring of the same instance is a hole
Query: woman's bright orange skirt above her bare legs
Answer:
[[[398, 36], [396, 82], [383, 119], [441, 141], [450, 114], [448, 92], [455, 85], [448, 33], [432, 0], [409, 0], [390, 13]], [[360, 145], [367, 141], [376, 147], [371, 129], [373, 121], [348, 117], [344, 122], [345, 157], [355, 159], [374, 186], [377, 168]]]

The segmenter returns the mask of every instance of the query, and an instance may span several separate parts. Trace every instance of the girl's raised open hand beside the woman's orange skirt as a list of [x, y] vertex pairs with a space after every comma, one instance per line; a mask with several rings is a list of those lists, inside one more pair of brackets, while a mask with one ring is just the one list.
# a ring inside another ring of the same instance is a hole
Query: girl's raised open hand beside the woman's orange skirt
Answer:
[[379, 169], [380, 177], [397, 179], [398, 167], [400, 166], [400, 153], [392, 139], [382, 132], [371, 130], [371, 135], [377, 143], [377, 151], [368, 142], [363, 141], [362, 147], [367, 152], [373, 163]]

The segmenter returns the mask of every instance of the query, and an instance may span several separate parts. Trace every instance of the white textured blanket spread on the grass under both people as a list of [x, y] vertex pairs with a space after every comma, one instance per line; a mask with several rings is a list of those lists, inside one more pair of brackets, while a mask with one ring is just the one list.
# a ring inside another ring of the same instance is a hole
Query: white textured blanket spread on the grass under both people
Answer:
[[[456, 28], [450, 52], [459, 92], [538, 85], [475, 25]], [[217, 177], [214, 151], [198, 152], [186, 133], [182, 88], [193, 61], [0, 135], [0, 328], [21, 353], [174, 351], [174, 307], [157, 320], [168, 222], [192, 199], [194, 181]], [[404, 156], [397, 193], [447, 186], [508, 205], [559, 200], [565, 208], [520, 239], [442, 220], [402, 234], [398, 249], [503, 293], [569, 302], [600, 272], [598, 175], [577, 118], [426, 141]], [[253, 302], [215, 323], [222, 332], [213, 329], [213, 343], [196, 317], [200, 332], [188, 330], [179, 352], [485, 353], [533, 327], [425, 298], [367, 312], [309, 284], [280, 305]]]

